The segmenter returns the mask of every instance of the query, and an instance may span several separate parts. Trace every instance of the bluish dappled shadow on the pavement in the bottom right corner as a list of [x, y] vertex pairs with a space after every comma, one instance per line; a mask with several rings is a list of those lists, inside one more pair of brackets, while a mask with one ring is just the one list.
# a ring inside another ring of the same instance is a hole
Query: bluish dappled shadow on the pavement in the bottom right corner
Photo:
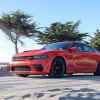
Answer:
[[66, 92], [64, 96], [60, 96], [59, 100], [100, 100], [100, 93], [89, 88], [81, 88], [79, 90], [72, 89]]

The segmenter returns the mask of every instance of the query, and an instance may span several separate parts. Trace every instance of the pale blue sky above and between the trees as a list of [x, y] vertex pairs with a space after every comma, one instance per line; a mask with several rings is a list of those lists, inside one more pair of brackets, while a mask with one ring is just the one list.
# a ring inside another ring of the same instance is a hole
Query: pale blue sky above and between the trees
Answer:
[[[100, 28], [100, 0], [0, 0], [0, 15], [18, 9], [34, 16], [39, 27], [56, 21], [80, 20], [81, 32], [93, 35]], [[24, 47], [19, 46], [20, 51], [39, 48], [32, 40], [24, 41]], [[0, 62], [10, 61], [14, 54], [14, 45], [0, 30]]]

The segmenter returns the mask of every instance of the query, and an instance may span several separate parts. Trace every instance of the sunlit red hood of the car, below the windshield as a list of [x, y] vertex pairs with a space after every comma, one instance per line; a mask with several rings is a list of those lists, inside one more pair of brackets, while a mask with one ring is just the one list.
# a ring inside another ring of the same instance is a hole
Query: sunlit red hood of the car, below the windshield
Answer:
[[16, 54], [15, 56], [32, 56], [32, 55], [42, 55], [45, 53], [48, 53], [47, 50], [30, 50], [30, 51], [24, 51], [21, 53]]

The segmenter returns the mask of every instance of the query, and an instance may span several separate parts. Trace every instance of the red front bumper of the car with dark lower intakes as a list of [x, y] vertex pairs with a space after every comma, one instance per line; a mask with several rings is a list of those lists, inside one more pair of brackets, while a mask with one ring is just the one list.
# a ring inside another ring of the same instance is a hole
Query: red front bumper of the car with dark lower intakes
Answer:
[[10, 71], [16, 74], [48, 74], [50, 69], [50, 61], [13, 61], [10, 64]]

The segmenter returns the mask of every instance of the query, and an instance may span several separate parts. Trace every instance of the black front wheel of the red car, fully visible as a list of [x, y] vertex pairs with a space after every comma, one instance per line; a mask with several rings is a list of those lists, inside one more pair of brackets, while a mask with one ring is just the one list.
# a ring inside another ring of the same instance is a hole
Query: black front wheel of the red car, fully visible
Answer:
[[62, 78], [65, 73], [65, 61], [62, 58], [55, 58], [52, 65], [49, 77], [50, 78]]

